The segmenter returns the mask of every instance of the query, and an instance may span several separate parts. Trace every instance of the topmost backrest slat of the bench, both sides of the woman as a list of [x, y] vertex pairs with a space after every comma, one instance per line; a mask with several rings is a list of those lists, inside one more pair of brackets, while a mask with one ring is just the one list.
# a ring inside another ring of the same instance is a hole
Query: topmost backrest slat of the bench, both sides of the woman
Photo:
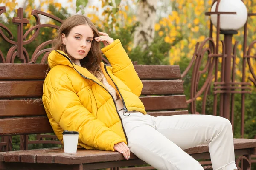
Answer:
[[[134, 65], [140, 79], [180, 79], [178, 65]], [[0, 63], [1, 80], [43, 80], [47, 64]]]

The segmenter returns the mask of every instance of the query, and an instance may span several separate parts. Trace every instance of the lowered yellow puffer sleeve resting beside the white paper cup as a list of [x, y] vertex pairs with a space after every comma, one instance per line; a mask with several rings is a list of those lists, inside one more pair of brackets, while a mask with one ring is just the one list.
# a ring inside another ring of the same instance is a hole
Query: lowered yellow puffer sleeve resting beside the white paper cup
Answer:
[[[71, 86], [72, 87], [72, 86]], [[81, 104], [73, 89], [60, 87], [51, 94], [49, 111], [63, 130], [79, 132], [79, 140], [99, 150], [114, 150], [114, 144], [125, 142]]]

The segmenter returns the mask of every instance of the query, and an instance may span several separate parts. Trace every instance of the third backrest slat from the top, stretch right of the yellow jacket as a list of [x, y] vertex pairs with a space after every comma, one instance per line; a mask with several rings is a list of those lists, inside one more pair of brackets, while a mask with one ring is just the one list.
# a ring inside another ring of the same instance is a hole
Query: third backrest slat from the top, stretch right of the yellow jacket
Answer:
[[140, 97], [146, 111], [172, 110], [187, 108], [186, 96], [147, 96]]

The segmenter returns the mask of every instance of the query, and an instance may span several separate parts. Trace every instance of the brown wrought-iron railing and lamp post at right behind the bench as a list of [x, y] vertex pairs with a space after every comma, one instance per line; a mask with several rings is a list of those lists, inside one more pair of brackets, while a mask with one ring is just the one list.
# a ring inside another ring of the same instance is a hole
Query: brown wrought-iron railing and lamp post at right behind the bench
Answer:
[[[242, 77], [241, 81], [235, 79], [236, 76], [236, 49], [238, 41], [232, 44], [233, 34], [237, 34], [237, 31], [223, 31], [220, 29], [220, 15], [222, 14], [236, 14], [236, 12], [219, 12], [218, 6], [220, 0], [214, 0], [213, 4], [216, 4], [215, 12], [206, 12], [206, 15], [216, 14], [217, 15], [217, 28], [216, 28], [216, 39], [214, 40], [213, 35], [213, 24], [210, 22], [210, 33], [209, 37], [206, 38], [201, 44], [195, 45], [195, 52], [192, 56], [192, 60], [188, 67], [182, 74], [184, 78], [189, 71], [192, 71], [190, 97], [187, 101], [190, 104], [192, 114], [198, 114], [196, 108], [196, 99], [199, 96], [202, 97], [202, 108], [201, 114], [206, 114], [207, 95], [212, 92], [214, 95], [213, 99], [213, 115], [223, 116], [230, 120], [234, 130], [234, 107], [235, 107], [235, 96], [234, 94], [241, 94], [241, 137], [244, 137], [244, 117], [245, 117], [245, 94], [251, 94], [252, 85], [250, 82], [246, 82], [246, 67], [249, 67], [250, 76], [248, 79], [253, 82], [256, 86], [256, 74], [253, 70], [251, 59], [256, 59], [256, 54], [252, 54], [252, 49], [256, 44], [256, 41], [250, 43], [247, 46], [247, 34], [248, 34], [248, 20], [244, 25], [244, 41], [243, 41], [243, 56], [242, 56]], [[256, 13], [248, 13], [248, 17], [256, 16]], [[219, 47], [220, 34], [224, 34], [224, 40], [221, 40], [221, 50]], [[248, 47], [248, 49], [247, 49]], [[219, 61], [222, 61], [221, 63]], [[221, 64], [219, 66], [219, 64]], [[201, 68], [203, 66], [203, 68]], [[221, 71], [220, 79], [218, 79], [218, 71]], [[201, 76], [207, 74], [206, 80], [203, 82], [201, 88], [198, 87]], [[211, 88], [213, 85], [213, 88]], [[219, 102], [217, 97], [219, 95]], [[219, 111], [217, 111], [219, 106]], [[218, 114], [217, 114], [218, 112]], [[209, 114], [209, 113], [208, 113]], [[253, 156], [256, 157], [256, 156]], [[242, 159], [247, 160], [244, 157], [239, 157], [236, 164]], [[248, 162], [250, 160], [247, 160]], [[256, 160], [253, 160], [256, 162]], [[239, 167], [240, 168], [240, 167]], [[241, 169], [241, 168], [240, 168]]]

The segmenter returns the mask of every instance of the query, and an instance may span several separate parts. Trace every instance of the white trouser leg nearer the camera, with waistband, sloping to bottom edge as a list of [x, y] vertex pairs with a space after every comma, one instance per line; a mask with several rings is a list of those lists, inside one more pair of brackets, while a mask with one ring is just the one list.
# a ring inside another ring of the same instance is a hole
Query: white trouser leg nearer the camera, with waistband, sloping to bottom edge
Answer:
[[122, 111], [119, 115], [128, 136], [128, 147], [141, 160], [158, 170], [203, 170], [198, 161], [154, 128], [150, 115], [137, 112], [123, 116]]

